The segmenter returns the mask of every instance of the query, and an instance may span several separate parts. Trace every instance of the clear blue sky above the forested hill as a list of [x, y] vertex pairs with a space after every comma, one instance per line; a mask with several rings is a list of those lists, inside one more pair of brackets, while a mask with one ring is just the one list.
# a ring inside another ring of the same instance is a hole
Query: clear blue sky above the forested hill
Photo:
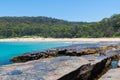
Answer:
[[120, 13], [120, 0], [0, 0], [0, 16], [95, 22]]

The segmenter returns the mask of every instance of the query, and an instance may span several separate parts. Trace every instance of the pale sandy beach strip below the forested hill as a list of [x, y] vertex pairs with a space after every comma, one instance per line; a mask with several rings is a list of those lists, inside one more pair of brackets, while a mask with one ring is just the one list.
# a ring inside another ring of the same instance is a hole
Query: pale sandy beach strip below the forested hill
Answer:
[[120, 42], [120, 38], [8, 38], [0, 42]]

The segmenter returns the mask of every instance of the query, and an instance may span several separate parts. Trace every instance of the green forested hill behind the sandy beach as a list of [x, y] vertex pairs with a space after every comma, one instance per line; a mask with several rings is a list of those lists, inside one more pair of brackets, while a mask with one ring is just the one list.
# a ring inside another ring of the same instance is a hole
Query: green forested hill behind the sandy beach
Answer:
[[0, 17], [0, 38], [23, 36], [120, 37], [120, 14], [91, 23], [69, 22], [48, 17]]

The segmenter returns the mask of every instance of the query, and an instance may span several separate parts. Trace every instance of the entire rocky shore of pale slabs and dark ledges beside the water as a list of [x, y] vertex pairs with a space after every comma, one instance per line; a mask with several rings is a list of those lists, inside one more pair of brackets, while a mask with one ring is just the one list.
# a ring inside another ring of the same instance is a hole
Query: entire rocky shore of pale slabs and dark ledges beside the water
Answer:
[[[118, 43], [97, 46], [72, 45], [27, 52], [12, 58], [15, 64], [0, 67], [0, 80], [119, 80], [110, 72], [119, 71]], [[114, 67], [113, 69], [113, 66]], [[114, 72], [116, 75], [117, 72]]]

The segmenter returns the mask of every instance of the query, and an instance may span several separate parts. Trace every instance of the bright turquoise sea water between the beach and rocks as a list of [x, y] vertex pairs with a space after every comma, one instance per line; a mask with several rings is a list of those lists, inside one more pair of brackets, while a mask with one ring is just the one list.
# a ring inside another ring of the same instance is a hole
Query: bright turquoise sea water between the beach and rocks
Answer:
[[0, 65], [11, 64], [9, 60], [25, 52], [68, 46], [65, 42], [0, 42]]

